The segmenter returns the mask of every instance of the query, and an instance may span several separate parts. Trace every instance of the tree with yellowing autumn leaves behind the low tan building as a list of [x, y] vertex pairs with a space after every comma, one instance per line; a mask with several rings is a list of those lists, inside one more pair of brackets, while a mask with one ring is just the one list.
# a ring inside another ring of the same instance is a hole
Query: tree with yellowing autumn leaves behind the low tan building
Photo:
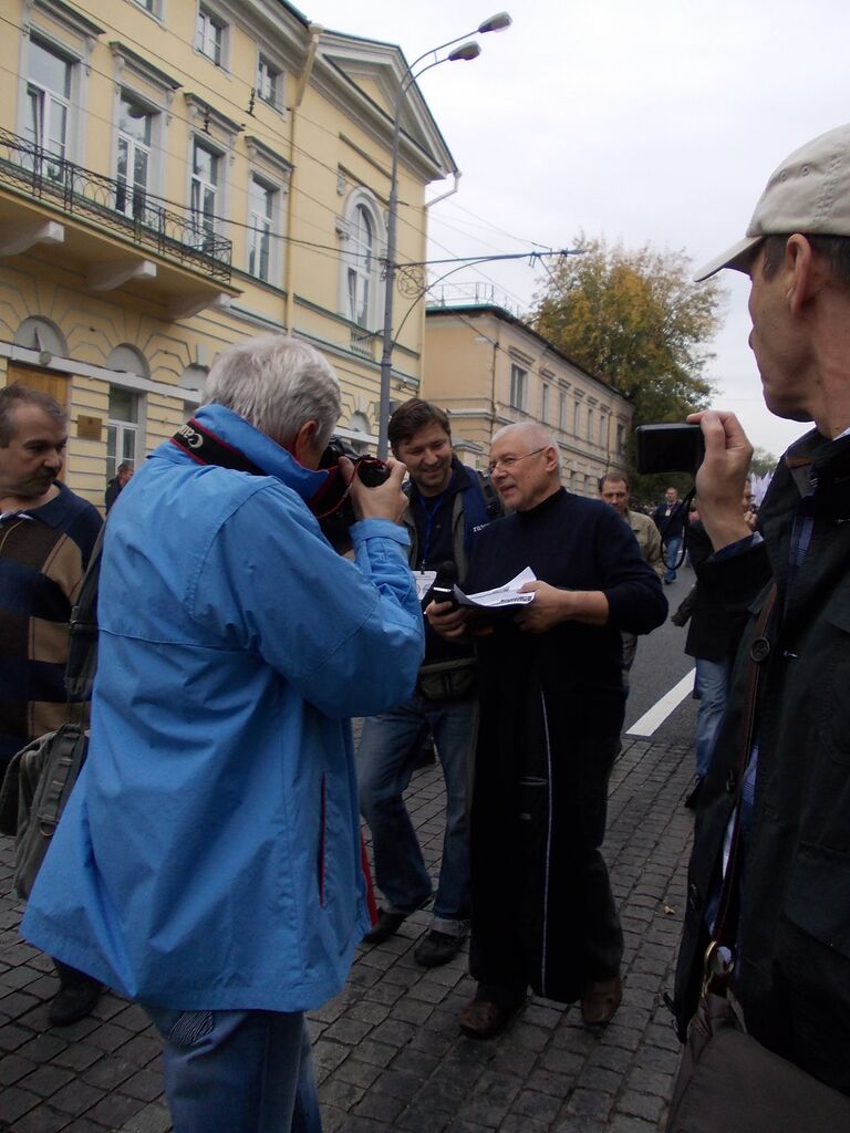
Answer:
[[[636, 425], [704, 409], [713, 392], [708, 343], [725, 298], [716, 280], [691, 282], [682, 252], [632, 252], [584, 233], [573, 247], [584, 255], [564, 256], [535, 296], [534, 327], [624, 393]], [[654, 495], [665, 479], [679, 486], [681, 477], [641, 477], [636, 486]]]

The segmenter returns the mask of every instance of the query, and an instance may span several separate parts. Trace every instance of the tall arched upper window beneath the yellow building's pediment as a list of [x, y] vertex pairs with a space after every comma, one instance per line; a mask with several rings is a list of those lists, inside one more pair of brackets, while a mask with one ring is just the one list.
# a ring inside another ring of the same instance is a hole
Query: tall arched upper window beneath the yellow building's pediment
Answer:
[[371, 193], [363, 188], [349, 193], [338, 231], [343, 249], [340, 310], [357, 326], [374, 331], [380, 321], [384, 223]]

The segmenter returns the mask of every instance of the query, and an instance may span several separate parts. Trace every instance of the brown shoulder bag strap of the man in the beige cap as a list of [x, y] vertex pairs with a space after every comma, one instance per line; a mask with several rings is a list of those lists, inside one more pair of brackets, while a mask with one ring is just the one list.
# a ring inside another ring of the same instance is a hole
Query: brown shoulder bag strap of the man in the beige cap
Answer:
[[732, 917], [732, 910], [736, 905], [737, 898], [737, 881], [738, 881], [738, 870], [741, 858], [741, 842], [742, 842], [742, 801], [743, 801], [743, 784], [747, 777], [747, 765], [749, 764], [750, 755], [753, 751], [753, 739], [756, 724], [756, 705], [758, 700], [758, 681], [759, 674], [762, 672], [762, 664], [767, 659], [771, 651], [771, 642], [765, 636], [767, 632], [767, 624], [771, 620], [773, 608], [776, 603], [776, 583], [774, 582], [768, 590], [764, 605], [762, 606], [762, 612], [758, 616], [758, 622], [756, 623], [756, 631], [749, 648], [749, 666], [747, 671], [747, 690], [745, 693], [743, 702], [743, 727], [741, 729], [741, 740], [738, 748], [738, 759], [736, 766], [732, 768], [729, 778], [730, 791], [737, 793], [736, 804], [734, 804], [734, 821], [732, 826], [732, 836], [730, 838], [729, 845], [729, 858], [726, 860], [726, 869], [723, 875], [723, 883], [720, 891], [720, 901], [717, 904], [717, 915], [714, 918], [714, 927], [712, 929], [712, 939], [708, 943], [708, 947], [705, 953], [705, 969], [704, 969], [704, 990], [708, 990], [708, 986], [712, 985], [712, 990], [717, 990], [717, 983], [720, 988], [725, 987], [725, 982], [732, 972], [732, 964], [724, 963], [720, 959], [719, 949], [723, 943], [723, 936], [725, 930], [731, 927], [732, 922], [737, 922], [737, 915]]

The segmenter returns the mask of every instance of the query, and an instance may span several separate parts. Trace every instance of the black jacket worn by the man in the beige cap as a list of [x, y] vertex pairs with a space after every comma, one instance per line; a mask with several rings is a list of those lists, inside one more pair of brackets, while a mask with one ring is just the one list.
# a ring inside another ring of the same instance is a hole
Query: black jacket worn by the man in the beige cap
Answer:
[[[807, 495], [815, 478], [814, 493]], [[703, 786], [675, 982], [683, 1038], [696, 1007], [733, 807], [755, 615], [777, 598], [762, 662], [753, 826], [745, 842], [734, 990], [750, 1033], [850, 1093], [850, 438], [809, 433], [785, 454], [759, 511], [764, 544], [706, 569], [748, 607], [726, 715]], [[807, 550], [789, 566], [794, 523]], [[758, 651], [758, 650], [757, 650]]]

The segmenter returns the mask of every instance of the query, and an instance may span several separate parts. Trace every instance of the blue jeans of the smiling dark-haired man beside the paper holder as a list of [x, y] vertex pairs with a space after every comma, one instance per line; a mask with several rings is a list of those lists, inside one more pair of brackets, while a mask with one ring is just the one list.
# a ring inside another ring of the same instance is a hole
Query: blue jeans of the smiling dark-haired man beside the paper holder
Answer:
[[410, 816], [402, 799], [418, 761], [426, 727], [434, 736], [445, 781], [445, 834], [434, 927], [469, 917], [467, 785], [478, 725], [478, 701], [426, 700], [418, 692], [364, 721], [357, 749], [360, 810], [372, 830], [375, 881], [388, 912], [411, 913], [431, 895]]

